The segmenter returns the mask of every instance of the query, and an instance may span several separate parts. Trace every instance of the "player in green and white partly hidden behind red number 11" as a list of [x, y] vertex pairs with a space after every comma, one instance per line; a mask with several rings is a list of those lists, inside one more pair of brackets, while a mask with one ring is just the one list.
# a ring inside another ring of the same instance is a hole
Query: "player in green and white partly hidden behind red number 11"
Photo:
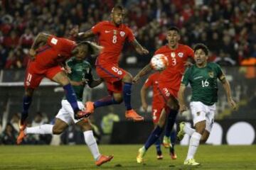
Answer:
[[[100, 48], [100, 46], [97, 46], [92, 42], [87, 42], [85, 43], [85, 47], [82, 52], [77, 52], [73, 57], [70, 58], [70, 60], [66, 62], [65, 70], [68, 73], [68, 78], [70, 79], [71, 85], [73, 86], [75, 94], [78, 98], [78, 106], [81, 109], [84, 109], [84, 104], [82, 103], [82, 93], [85, 85], [88, 84], [88, 86], [92, 88], [102, 83], [101, 79], [93, 79], [91, 65], [89, 62], [85, 61], [85, 57], [87, 57], [87, 55], [99, 51]], [[62, 108], [60, 108], [58, 115], [55, 117], [54, 125], [46, 124], [26, 128], [23, 130], [23, 133], [18, 136], [18, 144], [22, 142], [23, 138], [26, 137], [27, 134], [60, 135], [66, 128], [68, 128], [68, 125], [75, 123], [76, 125], [80, 126], [84, 134], [85, 143], [89, 147], [90, 152], [95, 159], [95, 164], [100, 166], [105, 162], [109, 162], [113, 156], [105, 156], [100, 154], [97, 147], [97, 142], [92, 133], [92, 125], [90, 120], [88, 118], [80, 118], [78, 120], [75, 119], [73, 109], [65, 97], [61, 101], [61, 105]]]

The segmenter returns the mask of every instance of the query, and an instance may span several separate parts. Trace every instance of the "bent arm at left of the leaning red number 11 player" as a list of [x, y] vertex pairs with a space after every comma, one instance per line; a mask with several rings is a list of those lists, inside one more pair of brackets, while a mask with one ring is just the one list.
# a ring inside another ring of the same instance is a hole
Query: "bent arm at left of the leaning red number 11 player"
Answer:
[[32, 60], [35, 59], [36, 49], [38, 49], [38, 47], [40, 47], [41, 45], [46, 45], [49, 36], [50, 35], [46, 33], [39, 33], [36, 36], [36, 39], [34, 40], [31, 49], [29, 50], [29, 55], [31, 56]]

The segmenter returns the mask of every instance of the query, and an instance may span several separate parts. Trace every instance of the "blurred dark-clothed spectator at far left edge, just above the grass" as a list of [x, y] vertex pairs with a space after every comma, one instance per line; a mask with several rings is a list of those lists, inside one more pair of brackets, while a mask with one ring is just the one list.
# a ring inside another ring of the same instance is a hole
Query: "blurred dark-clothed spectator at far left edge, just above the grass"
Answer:
[[17, 135], [11, 123], [7, 123], [4, 132], [0, 135], [1, 143], [4, 145], [15, 145]]

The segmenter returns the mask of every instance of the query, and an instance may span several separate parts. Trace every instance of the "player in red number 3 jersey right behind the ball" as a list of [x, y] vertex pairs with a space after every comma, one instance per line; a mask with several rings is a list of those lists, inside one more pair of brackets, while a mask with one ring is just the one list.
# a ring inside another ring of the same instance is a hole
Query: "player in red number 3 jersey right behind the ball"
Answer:
[[[176, 98], [178, 95], [179, 86], [181, 84], [181, 78], [183, 72], [185, 71], [184, 65], [186, 64], [188, 57], [193, 57], [193, 50], [191, 47], [178, 43], [180, 38], [180, 31], [178, 28], [169, 28], [166, 33], [168, 44], [160, 47], [159, 50], [156, 50], [154, 54], [164, 54], [169, 60], [169, 66], [163, 72], [161, 72], [158, 86], [159, 95], [164, 99], [165, 102], [165, 109], [162, 111], [159, 123], [154, 131], [151, 132], [151, 135], [146, 141], [144, 147], [139, 149], [139, 154], [137, 156], [138, 163], [143, 161], [146, 150], [156, 142], [161, 135], [161, 132], [163, 132], [166, 119], [168, 119], [165, 134], [166, 137], [170, 136], [171, 130], [174, 126], [179, 108]], [[136, 77], [134, 77], [133, 81], [137, 82], [140, 77], [144, 76], [150, 71], [151, 66], [148, 64], [136, 75]]]

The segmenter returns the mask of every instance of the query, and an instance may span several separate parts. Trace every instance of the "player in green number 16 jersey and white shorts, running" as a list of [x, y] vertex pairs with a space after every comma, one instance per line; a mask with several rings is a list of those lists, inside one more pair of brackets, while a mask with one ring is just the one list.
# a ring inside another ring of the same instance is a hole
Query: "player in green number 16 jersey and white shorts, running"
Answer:
[[223, 84], [225, 94], [228, 98], [229, 105], [235, 109], [236, 103], [231, 96], [230, 84], [225, 79], [220, 66], [215, 63], [208, 63], [208, 47], [203, 44], [197, 44], [194, 47], [194, 59], [196, 64], [189, 67], [181, 81], [181, 87], [178, 91], [178, 103], [180, 112], [186, 111], [184, 101], [184, 91], [188, 84], [191, 84], [191, 113], [195, 129], [188, 127], [185, 123], [180, 124], [178, 140], [182, 140], [185, 134], [191, 136], [188, 147], [188, 155], [184, 162], [185, 165], [199, 165], [193, 159], [199, 143], [205, 143], [213, 127], [214, 113], [216, 111], [215, 102], [218, 98], [217, 79]]

